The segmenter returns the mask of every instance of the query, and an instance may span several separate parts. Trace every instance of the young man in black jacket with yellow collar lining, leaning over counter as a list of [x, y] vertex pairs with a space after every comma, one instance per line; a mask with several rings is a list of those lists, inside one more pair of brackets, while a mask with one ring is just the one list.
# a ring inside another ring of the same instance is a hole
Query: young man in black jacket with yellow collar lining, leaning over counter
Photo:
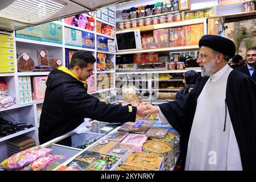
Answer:
[[[142, 116], [138, 107], [105, 104], [87, 93], [85, 80], [93, 73], [96, 59], [92, 53], [76, 51], [70, 68], [59, 67], [49, 73], [39, 126], [40, 144], [76, 129], [84, 118], [103, 122], [133, 122]], [[144, 109], [144, 110], [143, 110]]]

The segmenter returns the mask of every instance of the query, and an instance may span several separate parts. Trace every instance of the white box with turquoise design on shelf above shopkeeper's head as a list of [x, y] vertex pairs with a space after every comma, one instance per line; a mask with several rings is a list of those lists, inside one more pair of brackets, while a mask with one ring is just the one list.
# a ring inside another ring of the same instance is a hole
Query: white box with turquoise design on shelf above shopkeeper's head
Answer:
[[82, 32], [65, 27], [65, 45], [82, 47]]

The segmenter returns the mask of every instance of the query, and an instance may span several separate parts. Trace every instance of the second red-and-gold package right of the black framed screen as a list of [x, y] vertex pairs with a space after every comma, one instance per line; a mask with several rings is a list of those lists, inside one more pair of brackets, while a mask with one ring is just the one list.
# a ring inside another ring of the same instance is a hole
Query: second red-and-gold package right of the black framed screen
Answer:
[[154, 47], [169, 47], [169, 31], [168, 28], [154, 30]]

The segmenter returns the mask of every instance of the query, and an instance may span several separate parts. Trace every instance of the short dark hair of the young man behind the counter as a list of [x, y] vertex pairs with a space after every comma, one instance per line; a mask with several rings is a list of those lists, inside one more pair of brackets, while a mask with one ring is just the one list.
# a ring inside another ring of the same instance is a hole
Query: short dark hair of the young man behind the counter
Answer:
[[92, 55], [92, 52], [79, 50], [73, 53], [71, 62], [69, 64], [69, 69], [73, 69], [76, 65], [80, 68], [85, 68], [89, 63], [95, 63], [96, 59]]

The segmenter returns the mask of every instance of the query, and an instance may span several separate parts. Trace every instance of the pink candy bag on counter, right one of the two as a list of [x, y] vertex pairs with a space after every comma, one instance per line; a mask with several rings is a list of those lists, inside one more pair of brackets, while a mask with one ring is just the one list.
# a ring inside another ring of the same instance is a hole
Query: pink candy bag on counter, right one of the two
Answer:
[[28, 166], [23, 167], [22, 169], [20, 169], [20, 171], [41, 171], [42, 169], [46, 168], [56, 160], [61, 160], [64, 158], [65, 156], [62, 155], [47, 154], [45, 157], [36, 159], [31, 164], [28, 164]]

